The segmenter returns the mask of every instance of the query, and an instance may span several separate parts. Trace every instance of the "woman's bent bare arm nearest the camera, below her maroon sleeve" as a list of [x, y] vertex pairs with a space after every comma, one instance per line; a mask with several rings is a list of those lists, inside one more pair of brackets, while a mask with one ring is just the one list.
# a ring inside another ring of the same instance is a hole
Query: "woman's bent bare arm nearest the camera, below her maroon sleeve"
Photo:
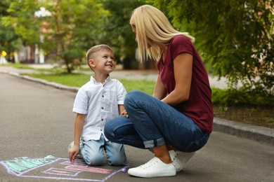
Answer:
[[193, 55], [183, 52], [174, 59], [175, 89], [164, 99], [171, 106], [188, 100], [193, 74]]

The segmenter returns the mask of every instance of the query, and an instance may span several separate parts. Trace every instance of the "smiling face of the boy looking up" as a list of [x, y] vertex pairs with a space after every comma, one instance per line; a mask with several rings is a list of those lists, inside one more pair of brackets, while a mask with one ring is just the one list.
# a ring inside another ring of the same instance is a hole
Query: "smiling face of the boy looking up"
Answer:
[[114, 56], [110, 50], [99, 50], [89, 59], [89, 64], [93, 67], [93, 71], [101, 73], [110, 73], [115, 67]]

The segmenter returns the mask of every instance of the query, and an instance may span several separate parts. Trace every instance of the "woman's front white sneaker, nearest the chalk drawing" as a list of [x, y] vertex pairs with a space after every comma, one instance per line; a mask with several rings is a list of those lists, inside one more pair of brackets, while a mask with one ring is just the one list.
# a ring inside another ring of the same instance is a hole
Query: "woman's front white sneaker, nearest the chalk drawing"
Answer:
[[176, 168], [174, 167], [173, 163], [166, 164], [159, 158], [154, 157], [145, 163], [145, 165], [129, 169], [127, 173], [132, 176], [143, 178], [176, 176]]

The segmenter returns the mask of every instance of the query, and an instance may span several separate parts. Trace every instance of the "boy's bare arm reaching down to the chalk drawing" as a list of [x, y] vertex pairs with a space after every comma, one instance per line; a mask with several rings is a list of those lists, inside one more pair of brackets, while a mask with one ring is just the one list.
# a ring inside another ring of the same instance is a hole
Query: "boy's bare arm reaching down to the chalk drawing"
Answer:
[[80, 143], [80, 137], [81, 137], [81, 132], [84, 127], [84, 120], [86, 118], [85, 114], [80, 114], [77, 113], [77, 116], [75, 118], [74, 122], [74, 146], [70, 148], [70, 161], [74, 162], [74, 159], [76, 155], [79, 153], [79, 143]]

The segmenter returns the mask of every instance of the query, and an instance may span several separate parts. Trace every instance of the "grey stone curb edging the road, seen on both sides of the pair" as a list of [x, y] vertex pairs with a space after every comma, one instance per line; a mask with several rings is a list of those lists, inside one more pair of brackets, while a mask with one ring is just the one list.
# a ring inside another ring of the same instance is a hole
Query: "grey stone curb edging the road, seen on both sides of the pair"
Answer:
[[[60, 90], [67, 90], [70, 92], [78, 92], [79, 87], [68, 87], [58, 83], [48, 82], [39, 78], [32, 78], [30, 76], [22, 76], [20, 73], [15, 73], [11, 71], [0, 70], [0, 73], [7, 73], [11, 76], [16, 76], [18, 78], [31, 80], [37, 83], [42, 83], [51, 87], [56, 87]], [[236, 123], [230, 120], [223, 120], [219, 118], [214, 118], [213, 121], [213, 131], [223, 132], [226, 134], [234, 135], [237, 137], [242, 137], [246, 139], [252, 139], [254, 141], [259, 141], [263, 144], [274, 145], [274, 130], [268, 127], [260, 127], [256, 125], [247, 125], [244, 123]]]

